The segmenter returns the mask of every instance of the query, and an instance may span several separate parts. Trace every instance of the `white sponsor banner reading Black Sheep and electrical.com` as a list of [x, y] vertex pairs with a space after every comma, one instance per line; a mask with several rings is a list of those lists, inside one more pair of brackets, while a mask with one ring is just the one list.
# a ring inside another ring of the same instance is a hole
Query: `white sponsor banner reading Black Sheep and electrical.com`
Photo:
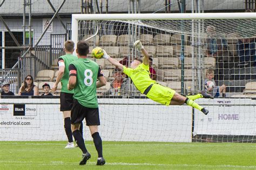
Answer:
[[40, 126], [40, 117], [37, 114], [37, 105], [9, 104], [1, 115], [1, 127], [37, 128]]

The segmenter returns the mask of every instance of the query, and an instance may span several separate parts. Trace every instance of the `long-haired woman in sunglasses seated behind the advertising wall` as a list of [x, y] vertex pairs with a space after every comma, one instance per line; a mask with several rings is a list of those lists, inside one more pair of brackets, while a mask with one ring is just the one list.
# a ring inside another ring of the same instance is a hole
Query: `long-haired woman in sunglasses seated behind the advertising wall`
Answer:
[[38, 87], [33, 84], [33, 77], [25, 77], [23, 85], [19, 88], [19, 96], [38, 96]]

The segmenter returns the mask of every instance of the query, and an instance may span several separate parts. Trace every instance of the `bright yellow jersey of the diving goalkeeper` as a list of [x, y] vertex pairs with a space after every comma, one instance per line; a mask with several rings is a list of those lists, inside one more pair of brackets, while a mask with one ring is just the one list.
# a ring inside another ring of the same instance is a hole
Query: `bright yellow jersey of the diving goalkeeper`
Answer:
[[129, 76], [136, 88], [143, 93], [151, 84], [156, 81], [150, 78], [149, 65], [140, 64], [136, 69], [131, 69], [126, 66], [123, 67], [124, 73]]

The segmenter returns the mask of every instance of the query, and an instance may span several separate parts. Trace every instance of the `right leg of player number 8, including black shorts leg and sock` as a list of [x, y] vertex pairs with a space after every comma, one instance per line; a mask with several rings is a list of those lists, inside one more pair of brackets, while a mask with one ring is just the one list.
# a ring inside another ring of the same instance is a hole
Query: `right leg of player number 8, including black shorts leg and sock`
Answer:
[[99, 109], [98, 108], [87, 108], [87, 114], [85, 117], [86, 125], [89, 126], [95, 148], [98, 152], [98, 160], [96, 165], [104, 165], [105, 159], [102, 153], [102, 138], [100, 138], [98, 132], [99, 122]]

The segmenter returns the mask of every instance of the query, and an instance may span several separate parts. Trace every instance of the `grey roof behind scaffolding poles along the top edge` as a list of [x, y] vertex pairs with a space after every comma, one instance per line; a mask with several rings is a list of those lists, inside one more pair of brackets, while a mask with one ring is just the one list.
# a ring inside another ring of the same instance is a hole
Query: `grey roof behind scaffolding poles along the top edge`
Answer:
[[[51, 3], [58, 9], [58, 6], [62, 4], [64, 0], [51, 0]], [[71, 14], [81, 12], [81, 0], [66, 0], [62, 9], [60, 9], [59, 14]], [[93, 1], [95, 2], [95, 1]], [[99, 2], [99, 0], [98, 0]], [[105, 1], [103, 1], [103, 6]], [[128, 12], [129, 0], [109, 0], [109, 12]], [[171, 11], [178, 11], [177, 1], [171, 1]], [[191, 10], [191, 1], [186, 1], [186, 9]], [[94, 10], [96, 10], [96, 5], [93, 4]], [[99, 5], [100, 6], [100, 5]], [[154, 12], [165, 10], [165, 0], [141, 0], [140, 9], [142, 12]], [[244, 0], [205, 0], [204, 10], [241, 10], [245, 9]], [[3, 5], [0, 7], [0, 15], [4, 16], [16, 16], [23, 13], [23, 1], [12, 0], [4, 1]], [[26, 13], [29, 9], [26, 8]], [[105, 12], [105, 7], [103, 8]], [[32, 14], [33, 15], [53, 15], [53, 10], [46, 0], [32, 0]]]

